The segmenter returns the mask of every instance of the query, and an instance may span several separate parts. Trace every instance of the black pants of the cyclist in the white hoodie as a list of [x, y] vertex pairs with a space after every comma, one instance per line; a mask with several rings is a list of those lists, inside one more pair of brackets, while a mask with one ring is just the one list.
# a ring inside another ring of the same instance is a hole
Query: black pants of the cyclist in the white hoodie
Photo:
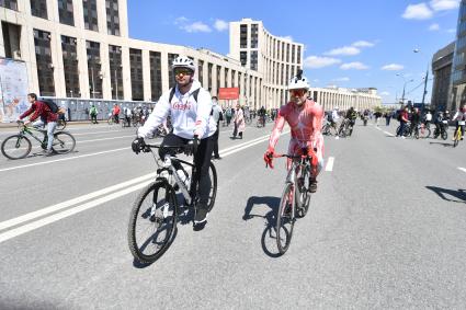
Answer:
[[[179, 137], [174, 134], [168, 134], [164, 136], [162, 146], [170, 147], [182, 147], [187, 145], [190, 139], [185, 139]], [[214, 136], [211, 136], [205, 139], [201, 139], [201, 143], [197, 147], [197, 152], [194, 154], [194, 165], [196, 173], [193, 175], [194, 180], [198, 182], [198, 197], [200, 204], [206, 206], [208, 203], [208, 194], [211, 192], [212, 180], [208, 174], [208, 165], [211, 164], [212, 150], [214, 146]], [[172, 149], [159, 149], [159, 156], [161, 159], [164, 158], [166, 154], [170, 153], [171, 156], [175, 156], [175, 151]], [[174, 163], [173, 167], [179, 170], [181, 169], [180, 163]]]

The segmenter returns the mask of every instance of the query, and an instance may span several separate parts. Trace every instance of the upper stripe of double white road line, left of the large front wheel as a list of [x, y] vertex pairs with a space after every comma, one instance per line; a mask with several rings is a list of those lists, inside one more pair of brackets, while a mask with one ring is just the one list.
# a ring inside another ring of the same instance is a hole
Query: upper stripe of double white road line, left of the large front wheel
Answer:
[[143, 182], [143, 181], [147, 181], [148, 179], [152, 179], [156, 175], [157, 175], [157, 173], [155, 173], [155, 172], [149, 173], [149, 174], [146, 174], [146, 175], [143, 175], [143, 176], [139, 176], [139, 177], [135, 177], [133, 180], [128, 180], [126, 182], [122, 182], [122, 183], [118, 183], [118, 184], [115, 184], [115, 185], [112, 185], [112, 186], [89, 193], [87, 195], [82, 195], [82, 196], [69, 199], [67, 202], [62, 202], [62, 203], [59, 203], [59, 204], [56, 204], [56, 205], [33, 211], [33, 213], [29, 213], [29, 214], [19, 216], [16, 218], [13, 218], [13, 219], [10, 219], [10, 220], [2, 221], [2, 222], [0, 222], [0, 230], [16, 226], [19, 223], [22, 223], [22, 222], [25, 222], [25, 221], [29, 221], [29, 220], [32, 220], [32, 219], [36, 219], [38, 217], [43, 217], [45, 215], [68, 208], [70, 206], [83, 203], [86, 200], [89, 200], [89, 199], [92, 199], [92, 198], [115, 192], [117, 190], [127, 187], [129, 185], [134, 185], [134, 184]]

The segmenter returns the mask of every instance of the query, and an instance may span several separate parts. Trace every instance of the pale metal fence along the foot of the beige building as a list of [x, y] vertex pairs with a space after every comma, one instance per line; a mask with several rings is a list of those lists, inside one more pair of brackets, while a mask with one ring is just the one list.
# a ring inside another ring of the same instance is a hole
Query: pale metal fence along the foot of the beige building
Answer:
[[[113, 105], [116, 103], [120, 105], [123, 113], [124, 107], [135, 108], [138, 105], [143, 107], [154, 108], [156, 105], [155, 102], [144, 102], [144, 101], [121, 101], [121, 100], [99, 100], [99, 99], [75, 99], [75, 97], [46, 97], [53, 100], [58, 106], [65, 108], [65, 117], [67, 120], [88, 120], [90, 119], [89, 110], [92, 104], [99, 111], [98, 119], [107, 119], [112, 114]], [[39, 99], [41, 100], [41, 99]]]

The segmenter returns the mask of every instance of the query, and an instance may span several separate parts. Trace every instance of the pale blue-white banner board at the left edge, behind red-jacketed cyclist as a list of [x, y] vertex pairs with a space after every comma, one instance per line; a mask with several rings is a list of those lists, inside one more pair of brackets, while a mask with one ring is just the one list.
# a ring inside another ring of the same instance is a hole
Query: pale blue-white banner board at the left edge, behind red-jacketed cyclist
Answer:
[[26, 64], [0, 58], [0, 123], [10, 123], [29, 107]]

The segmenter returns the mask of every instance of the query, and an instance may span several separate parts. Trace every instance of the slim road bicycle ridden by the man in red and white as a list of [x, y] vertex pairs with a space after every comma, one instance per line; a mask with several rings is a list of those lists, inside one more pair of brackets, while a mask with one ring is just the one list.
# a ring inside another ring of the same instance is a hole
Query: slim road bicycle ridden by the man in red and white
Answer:
[[312, 150], [306, 150], [304, 156], [273, 156], [293, 160], [286, 175], [285, 188], [276, 216], [276, 245], [281, 254], [284, 254], [289, 248], [296, 218], [305, 217], [309, 209], [310, 163], [317, 165], [317, 157]]

